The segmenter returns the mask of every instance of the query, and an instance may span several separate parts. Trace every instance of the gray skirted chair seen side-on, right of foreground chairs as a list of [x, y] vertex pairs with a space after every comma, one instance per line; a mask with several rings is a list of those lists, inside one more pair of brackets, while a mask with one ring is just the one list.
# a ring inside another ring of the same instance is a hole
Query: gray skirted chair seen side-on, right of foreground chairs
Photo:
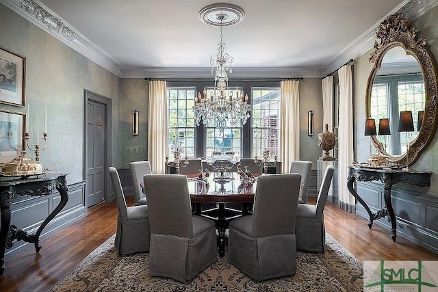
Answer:
[[296, 215], [296, 247], [308, 252], [324, 252], [326, 230], [324, 226], [324, 204], [329, 194], [334, 168], [328, 165], [316, 204], [298, 204]]

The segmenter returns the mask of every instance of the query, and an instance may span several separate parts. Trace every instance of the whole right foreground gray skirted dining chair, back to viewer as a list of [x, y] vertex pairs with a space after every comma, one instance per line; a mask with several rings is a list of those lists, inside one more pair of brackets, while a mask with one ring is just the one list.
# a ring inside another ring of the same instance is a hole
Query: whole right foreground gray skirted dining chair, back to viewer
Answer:
[[300, 174], [259, 176], [253, 215], [229, 224], [229, 263], [254, 280], [296, 272], [295, 221]]

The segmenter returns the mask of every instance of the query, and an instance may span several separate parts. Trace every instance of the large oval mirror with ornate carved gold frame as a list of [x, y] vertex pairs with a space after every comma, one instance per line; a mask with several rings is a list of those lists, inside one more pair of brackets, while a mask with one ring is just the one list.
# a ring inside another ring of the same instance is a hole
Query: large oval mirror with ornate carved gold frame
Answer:
[[[391, 134], [371, 139], [389, 164], [410, 165], [435, 134], [436, 62], [426, 40], [417, 37], [411, 21], [401, 15], [383, 21], [376, 29], [376, 38], [370, 57], [374, 67], [368, 77], [365, 114], [366, 118], [374, 118], [376, 125], [381, 118], [389, 118]], [[400, 111], [412, 112], [414, 131], [398, 132]]]

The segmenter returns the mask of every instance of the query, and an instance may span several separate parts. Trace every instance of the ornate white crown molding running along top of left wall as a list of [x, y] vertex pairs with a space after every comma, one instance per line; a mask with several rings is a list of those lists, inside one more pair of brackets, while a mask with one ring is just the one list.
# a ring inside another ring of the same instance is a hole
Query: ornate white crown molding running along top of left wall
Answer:
[[119, 75], [122, 66], [105, 51], [88, 40], [72, 25], [57, 16], [40, 1], [34, 0], [0, 0], [6, 7], [27, 19], [40, 29], [54, 36], [68, 47], [71, 47], [81, 55], [88, 57], [96, 64]]

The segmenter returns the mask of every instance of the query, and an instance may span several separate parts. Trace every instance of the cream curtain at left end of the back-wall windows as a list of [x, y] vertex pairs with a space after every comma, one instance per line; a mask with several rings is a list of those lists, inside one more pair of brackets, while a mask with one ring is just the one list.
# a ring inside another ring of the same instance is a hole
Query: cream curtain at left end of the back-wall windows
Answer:
[[166, 81], [149, 81], [148, 160], [153, 174], [164, 174], [167, 153]]

